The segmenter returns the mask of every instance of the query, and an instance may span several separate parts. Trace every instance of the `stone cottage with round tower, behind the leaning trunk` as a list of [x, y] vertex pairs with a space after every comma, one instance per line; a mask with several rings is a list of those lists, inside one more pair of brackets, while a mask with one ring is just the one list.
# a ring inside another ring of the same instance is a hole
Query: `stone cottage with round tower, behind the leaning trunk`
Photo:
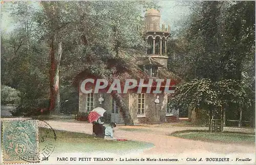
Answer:
[[[126, 64], [109, 60], [110, 63], [116, 64], [118, 70], [122, 70], [122, 73], [120, 72], [115, 78], [121, 79], [120, 81], [124, 81], [125, 78], [138, 79], [145, 76], [153, 79], [162, 78], [166, 80], [168, 78], [171, 79], [169, 90], [174, 93], [175, 85], [181, 81], [181, 78], [167, 69], [166, 41], [170, 36], [169, 25], [162, 24], [160, 27], [160, 12], [150, 9], [145, 14], [145, 28], [144, 39], [151, 47], [147, 52], [131, 49], [122, 50], [120, 54], [131, 55], [130, 61], [127, 61]], [[132, 56], [134, 54], [136, 56]], [[87, 78], [97, 77], [86, 71], [76, 76], [76, 81], [80, 82], [79, 89], [81, 81]], [[161, 90], [163, 90], [162, 87]], [[138, 94], [130, 91], [120, 95], [126, 106], [129, 107], [135, 124], [172, 122], [177, 118], [174, 114], [175, 109], [168, 104], [172, 94]], [[109, 114], [111, 122], [124, 123], [120, 109], [111, 94], [106, 92], [84, 94], [79, 90], [79, 112], [90, 112], [98, 106], [106, 109], [106, 114]]]

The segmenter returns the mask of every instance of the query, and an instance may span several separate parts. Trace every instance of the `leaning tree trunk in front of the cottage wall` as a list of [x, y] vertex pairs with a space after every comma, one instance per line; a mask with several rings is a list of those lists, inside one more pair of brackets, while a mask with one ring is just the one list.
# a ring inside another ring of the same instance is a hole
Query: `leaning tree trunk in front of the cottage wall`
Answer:
[[127, 107], [126, 104], [123, 102], [122, 97], [116, 91], [113, 91], [111, 95], [116, 101], [118, 107], [120, 108], [120, 111], [124, 120], [124, 124], [134, 125], [133, 119], [129, 111], [129, 107]]

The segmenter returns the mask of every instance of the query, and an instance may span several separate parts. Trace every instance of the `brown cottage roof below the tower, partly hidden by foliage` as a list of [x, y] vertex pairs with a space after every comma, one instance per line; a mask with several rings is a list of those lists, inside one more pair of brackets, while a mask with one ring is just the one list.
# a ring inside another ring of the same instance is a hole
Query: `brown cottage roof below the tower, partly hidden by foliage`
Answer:
[[[120, 50], [118, 54], [118, 58], [109, 59], [108, 69], [113, 70], [111, 76], [109, 76], [108, 80], [112, 81], [114, 79], [120, 79], [121, 85], [124, 85], [124, 82], [128, 78], [132, 79], [141, 79], [144, 78], [145, 81], [148, 80], [148, 75], [143, 72], [139, 65], [156, 65], [159, 66], [159, 78], [163, 79], [171, 79], [172, 86], [179, 84], [181, 78], [175, 75], [173, 72], [168, 71], [167, 68], [162, 67], [156, 60], [152, 58], [145, 57], [145, 53], [133, 50], [133, 49], [125, 49]], [[73, 85], [78, 86], [79, 81], [86, 78], [102, 78], [98, 75], [94, 75], [90, 73], [88, 70], [84, 70], [73, 79]]]

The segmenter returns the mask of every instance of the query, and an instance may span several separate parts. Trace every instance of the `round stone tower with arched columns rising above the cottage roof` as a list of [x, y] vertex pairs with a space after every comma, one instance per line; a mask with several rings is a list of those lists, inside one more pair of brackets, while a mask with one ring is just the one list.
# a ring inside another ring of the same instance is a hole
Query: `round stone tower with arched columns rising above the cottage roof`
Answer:
[[148, 56], [167, 68], [166, 41], [170, 36], [170, 26], [165, 24], [160, 26], [160, 11], [149, 9], [145, 14], [145, 28], [145, 40], [151, 45], [147, 50]]

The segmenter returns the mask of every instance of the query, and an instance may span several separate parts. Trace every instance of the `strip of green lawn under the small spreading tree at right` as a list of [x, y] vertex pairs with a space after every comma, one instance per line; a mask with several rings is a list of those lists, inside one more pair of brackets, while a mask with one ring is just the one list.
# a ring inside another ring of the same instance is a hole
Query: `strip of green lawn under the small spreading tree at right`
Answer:
[[252, 133], [239, 132], [222, 132], [209, 133], [204, 130], [186, 130], [170, 134], [172, 136], [181, 137], [184, 139], [199, 140], [206, 142], [221, 142], [221, 143], [246, 143], [254, 144], [255, 135]]

